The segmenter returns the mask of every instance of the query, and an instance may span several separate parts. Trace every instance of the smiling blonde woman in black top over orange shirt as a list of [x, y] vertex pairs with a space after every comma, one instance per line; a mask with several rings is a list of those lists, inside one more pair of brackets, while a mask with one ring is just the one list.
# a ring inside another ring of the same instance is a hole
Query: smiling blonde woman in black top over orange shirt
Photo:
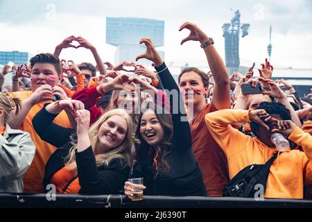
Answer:
[[[53, 123], [62, 110], [73, 114], [77, 130]], [[54, 184], [59, 194], [119, 194], [123, 189], [132, 166], [131, 118], [116, 109], [90, 128], [89, 121], [89, 111], [75, 100], [51, 103], [36, 114], [37, 134], [58, 147], [46, 164], [44, 187]]]

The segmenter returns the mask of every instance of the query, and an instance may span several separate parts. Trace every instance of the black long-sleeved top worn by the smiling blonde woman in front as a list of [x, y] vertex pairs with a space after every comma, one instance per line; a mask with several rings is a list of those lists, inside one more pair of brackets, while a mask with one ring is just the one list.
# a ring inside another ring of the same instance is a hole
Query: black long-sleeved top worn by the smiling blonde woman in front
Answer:
[[[76, 133], [76, 130], [53, 123], [57, 114], [47, 112], [46, 105], [33, 118], [33, 127], [41, 139], [58, 149], [46, 163], [44, 187], [51, 183], [53, 174], [65, 166], [64, 160], [71, 148], [70, 137]], [[76, 152], [76, 164], [81, 187], [80, 194], [120, 194], [130, 173], [130, 166], [123, 158], [114, 158], [108, 166], [96, 167], [91, 146], [83, 152]]]

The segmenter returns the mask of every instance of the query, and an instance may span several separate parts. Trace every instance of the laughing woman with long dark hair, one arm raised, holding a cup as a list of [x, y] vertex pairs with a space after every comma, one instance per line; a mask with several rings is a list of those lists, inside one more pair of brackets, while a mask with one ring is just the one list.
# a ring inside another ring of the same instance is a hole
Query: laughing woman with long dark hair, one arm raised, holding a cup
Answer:
[[[191, 147], [191, 132], [184, 110], [184, 102], [175, 80], [155, 50], [153, 43], [143, 39], [147, 51], [139, 58], [155, 63], [164, 88], [177, 92], [177, 101], [170, 96], [170, 111], [157, 105], [142, 110], [137, 127], [137, 162], [132, 177], [144, 178], [147, 195], [163, 196], [206, 196], [200, 168]], [[174, 103], [175, 102], [175, 103]], [[177, 108], [177, 109], [175, 109]], [[125, 194], [132, 198], [132, 187], [125, 182]]]

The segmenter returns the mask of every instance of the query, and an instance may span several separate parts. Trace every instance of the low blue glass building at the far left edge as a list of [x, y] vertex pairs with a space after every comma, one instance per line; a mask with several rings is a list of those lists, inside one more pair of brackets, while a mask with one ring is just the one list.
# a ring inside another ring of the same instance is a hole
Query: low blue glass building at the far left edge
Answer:
[[8, 62], [14, 62], [16, 65], [27, 63], [31, 55], [19, 51], [0, 51], [0, 65], [6, 65]]

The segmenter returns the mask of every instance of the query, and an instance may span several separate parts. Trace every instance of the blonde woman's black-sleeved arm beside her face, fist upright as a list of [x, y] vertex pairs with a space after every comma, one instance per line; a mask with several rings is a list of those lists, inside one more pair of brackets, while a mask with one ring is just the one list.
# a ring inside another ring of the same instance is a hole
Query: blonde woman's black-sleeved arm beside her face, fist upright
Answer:
[[125, 161], [115, 159], [111, 161], [108, 169], [100, 171], [96, 166], [94, 152], [89, 139], [90, 113], [87, 110], [78, 110], [76, 114], [78, 136], [76, 163], [81, 186], [80, 192], [83, 194], [118, 193], [128, 178], [130, 167]]

